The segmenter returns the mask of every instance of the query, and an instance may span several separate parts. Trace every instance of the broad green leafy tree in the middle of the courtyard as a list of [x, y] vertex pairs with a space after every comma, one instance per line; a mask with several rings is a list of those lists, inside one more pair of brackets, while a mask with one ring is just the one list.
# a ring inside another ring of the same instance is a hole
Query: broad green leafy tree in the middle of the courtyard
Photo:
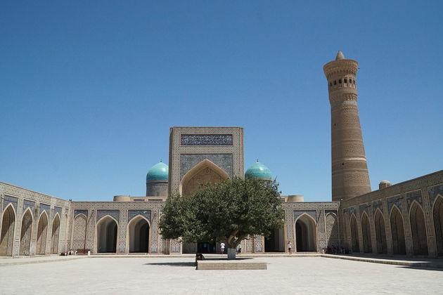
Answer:
[[225, 242], [228, 258], [248, 235], [271, 234], [282, 228], [284, 211], [274, 181], [233, 178], [205, 185], [190, 196], [172, 195], [165, 202], [160, 234], [165, 239]]

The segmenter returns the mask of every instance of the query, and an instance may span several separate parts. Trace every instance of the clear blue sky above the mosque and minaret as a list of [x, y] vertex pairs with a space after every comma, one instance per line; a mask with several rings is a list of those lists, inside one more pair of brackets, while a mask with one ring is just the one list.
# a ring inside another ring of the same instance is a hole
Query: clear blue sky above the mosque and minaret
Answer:
[[[216, 3], [217, 2], [217, 3]], [[330, 200], [323, 65], [359, 61], [373, 189], [443, 169], [441, 1], [1, 1], [0, 181], [140, 196], [170, 126], [242, 126], [245, 168]]]

